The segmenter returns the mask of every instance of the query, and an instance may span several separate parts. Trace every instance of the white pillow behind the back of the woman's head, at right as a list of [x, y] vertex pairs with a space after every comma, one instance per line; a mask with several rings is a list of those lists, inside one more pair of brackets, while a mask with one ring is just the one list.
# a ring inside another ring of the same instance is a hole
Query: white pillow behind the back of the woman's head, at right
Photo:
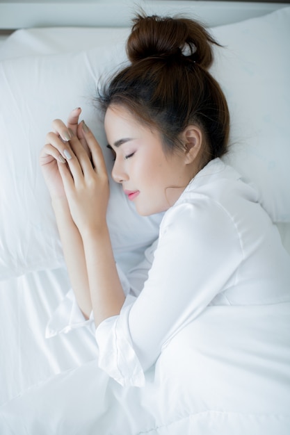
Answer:
[[273, 222], [290, 222], [290, 8], [213, 31], [212, 73], [231, 114], [225, 161], [260, 193]]

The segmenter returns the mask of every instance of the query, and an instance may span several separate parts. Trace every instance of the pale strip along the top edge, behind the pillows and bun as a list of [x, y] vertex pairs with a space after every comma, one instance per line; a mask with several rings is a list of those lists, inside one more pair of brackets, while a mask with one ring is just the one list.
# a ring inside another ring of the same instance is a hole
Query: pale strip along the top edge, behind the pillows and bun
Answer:
[[146, 13], [184, 13], [208, 26], [257, 17], [283, 3], [188, 0], [0, 0], [0, 29], [43, 26], [130, 26], [136, 5]]

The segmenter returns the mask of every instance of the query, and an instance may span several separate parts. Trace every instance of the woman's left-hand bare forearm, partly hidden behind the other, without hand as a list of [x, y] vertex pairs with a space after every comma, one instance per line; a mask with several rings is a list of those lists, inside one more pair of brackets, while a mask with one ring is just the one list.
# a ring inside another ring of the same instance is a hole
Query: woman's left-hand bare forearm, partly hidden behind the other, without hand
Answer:
[[72, 220], [67, 200], [53, 199], [52, 206], [56, 215], [56, 223], [61, 237], [65, 263], [74, 290], [76, 302], [86, 318], [92, 311], [86, 258], [83, 251], [83, 241]]

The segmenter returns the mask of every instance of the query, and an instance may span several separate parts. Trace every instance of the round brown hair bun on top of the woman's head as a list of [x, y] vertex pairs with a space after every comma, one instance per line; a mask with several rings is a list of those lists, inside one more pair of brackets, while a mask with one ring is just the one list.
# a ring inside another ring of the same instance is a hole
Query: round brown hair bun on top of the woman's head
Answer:
[[131, 63], [156, 56], [185, 56], [202, 67], [212, 63], [211, 44], [216, 42], [198, 22], [179, 17], [138, 15], [127, 41]]

